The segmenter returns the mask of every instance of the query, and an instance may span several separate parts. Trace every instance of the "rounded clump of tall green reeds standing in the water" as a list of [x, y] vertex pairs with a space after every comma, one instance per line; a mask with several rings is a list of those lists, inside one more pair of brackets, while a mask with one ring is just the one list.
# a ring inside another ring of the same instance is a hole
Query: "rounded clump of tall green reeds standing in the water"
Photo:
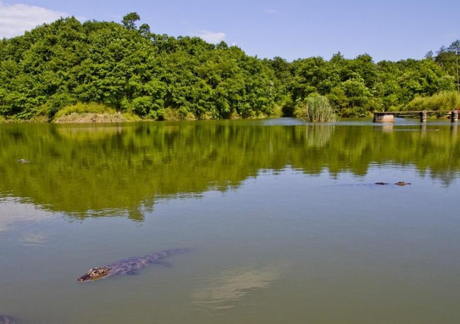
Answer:
[[294, 116], [308, 122], [330, 122], [337, 119], [328, 98], [319, 94], [309, 95], [298, 102]]

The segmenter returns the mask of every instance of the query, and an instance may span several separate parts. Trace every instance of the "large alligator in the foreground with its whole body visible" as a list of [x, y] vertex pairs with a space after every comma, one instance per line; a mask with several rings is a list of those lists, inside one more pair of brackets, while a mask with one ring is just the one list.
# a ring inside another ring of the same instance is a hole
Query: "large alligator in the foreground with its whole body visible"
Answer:
[[137, 270], [145, 268], [149, 264], [168, 265], [167, 262], [163, 261], [164, 258], [188, 251], [189, 250], [186, 248], [176, 248], [143, 256], [133, 256], [124, 260], [116, 261], [102, 268], [92, 268], [88, 271], [87, 274], [81, 276], [77, 280], [79, 282], [85, 282], [99, 280], [120, 274], [135, 274]]

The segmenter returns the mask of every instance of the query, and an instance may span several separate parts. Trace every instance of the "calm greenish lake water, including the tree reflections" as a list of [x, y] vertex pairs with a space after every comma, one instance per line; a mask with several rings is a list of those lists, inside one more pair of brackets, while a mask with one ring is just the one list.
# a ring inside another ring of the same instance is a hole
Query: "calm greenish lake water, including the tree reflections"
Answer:
[[[0, 314], [460, 323], [459, 134], [416, 120], [0, 125]], [[173, 267], [76, 281], [178, 247], [191, 252]]]

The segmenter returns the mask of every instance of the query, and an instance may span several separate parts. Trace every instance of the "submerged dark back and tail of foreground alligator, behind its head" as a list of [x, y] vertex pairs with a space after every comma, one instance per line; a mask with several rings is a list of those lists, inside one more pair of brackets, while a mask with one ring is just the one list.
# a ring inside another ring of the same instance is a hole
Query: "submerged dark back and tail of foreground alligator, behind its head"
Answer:
[[186, 248], [175, 248], [143, 256], [132, 256], [127, 259], [118, 260], [107, 267], [110, 268], [109, 275], [134, 274], [137, 270], [145, 268], [149, 264], [162, 264], [164, 258], [188, 251]]

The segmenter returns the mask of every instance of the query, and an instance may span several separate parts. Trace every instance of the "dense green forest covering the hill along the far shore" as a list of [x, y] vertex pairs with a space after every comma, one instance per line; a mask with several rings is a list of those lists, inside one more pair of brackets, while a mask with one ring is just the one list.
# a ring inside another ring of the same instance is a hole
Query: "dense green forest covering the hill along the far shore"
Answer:
[[367, 54], [337, 53], [287, 62], [225, 42], [155, 34], [139, 19], [135, 12], [121, 24], [61, 18], [1, 40], [0, 121], [52, 121], [85, 107], [128, 119], [281, 116], [318, 95], [344, 117], [460, 106], [459, 40], [423, 60], [375, 63]]

